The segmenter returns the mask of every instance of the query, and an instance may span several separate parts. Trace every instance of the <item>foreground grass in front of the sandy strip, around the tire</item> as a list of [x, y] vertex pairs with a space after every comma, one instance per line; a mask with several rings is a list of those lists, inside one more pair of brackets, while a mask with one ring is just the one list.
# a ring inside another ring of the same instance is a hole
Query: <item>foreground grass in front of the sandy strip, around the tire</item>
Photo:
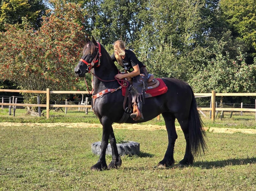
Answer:
[[256, 190], [256, 134], [207, 132], [206, 154], [181, 168], [185, 140], [177, 131], [176, 162], [158, 169], [165, 130], [115, 129], [140, 143], [140, 155], [122, 156], [119, 169], [95, 172], [90, 167], [99, 156], [91, 144], [101, 134], [101, 128], [0, 126], [0, 190]]

